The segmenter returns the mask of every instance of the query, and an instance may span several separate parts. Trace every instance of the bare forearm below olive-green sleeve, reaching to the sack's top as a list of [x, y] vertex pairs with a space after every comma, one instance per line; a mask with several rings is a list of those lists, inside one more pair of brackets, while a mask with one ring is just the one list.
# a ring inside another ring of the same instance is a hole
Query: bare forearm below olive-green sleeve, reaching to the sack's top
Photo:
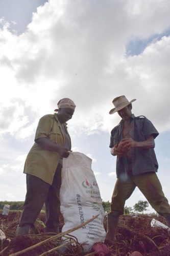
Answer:
[[59, 144], [54, 143], [53, 141], [47, 138], [39, 138], [39, 139], [36, 139], [35, 142], [41, 148], [43, 148], [43, 150], [57, 152], [60, 155], [60, 157], [64, 157], [64, 158], [69, 156], [68, 148], [62, 147]]

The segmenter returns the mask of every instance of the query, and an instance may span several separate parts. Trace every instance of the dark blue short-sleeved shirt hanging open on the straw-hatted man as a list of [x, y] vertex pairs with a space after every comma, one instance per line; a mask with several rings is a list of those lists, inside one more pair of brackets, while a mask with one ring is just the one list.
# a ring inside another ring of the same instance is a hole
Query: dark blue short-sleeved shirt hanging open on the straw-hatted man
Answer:
[[[153, 135], [154, 139], [159, 135], [154, 125], [144, 116], [135, 117], [131, 115], [130, 136], [135, 141], [147, 140]], [[110, 147], [123, 139], [123, 120], [113, 128], [110, 137]], [[148, 172], [157, 172], [158, 162], [156, 159], [154, 148], [132, 148], [132, 175], [139, 175]], [[118, 157], [116, 160], [117, 178], [126, 180], [128, 178], [127, 157]]]

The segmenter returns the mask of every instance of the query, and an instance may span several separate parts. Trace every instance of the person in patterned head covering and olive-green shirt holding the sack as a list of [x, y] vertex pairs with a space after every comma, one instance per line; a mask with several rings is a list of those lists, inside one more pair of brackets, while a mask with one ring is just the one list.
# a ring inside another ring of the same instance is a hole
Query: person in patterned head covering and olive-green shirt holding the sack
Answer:
[[39, 120], [35, 143], [26, 159], [23, 173], [27, 175], [27, 194], [16, 236], [29, 233], [44, 203], [45, 232], [59, 232], [62, 158], [67, 158], [71, 150], [66, 121], [71, 119], [76, 105], [68, 98], [57, 105], [56, 114]]

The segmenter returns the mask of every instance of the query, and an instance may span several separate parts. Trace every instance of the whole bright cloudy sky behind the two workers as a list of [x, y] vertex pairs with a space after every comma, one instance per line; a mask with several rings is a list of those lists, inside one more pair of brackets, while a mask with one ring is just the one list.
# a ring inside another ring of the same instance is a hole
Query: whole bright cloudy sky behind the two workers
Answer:
[[[0, 10], [0, 200], [25, 199], [22, 171], [38, 120], [69, 97], [77, 105], [68, 122], [72, 149], [93, 159], [110, 201], [110, 131], [120, 119], [109, 111], [126, 95], [160, 133], [158, 177], [170, 201], [169, 0], [1, 0]], [[138, 200], [136, 188], [126, 205]]]

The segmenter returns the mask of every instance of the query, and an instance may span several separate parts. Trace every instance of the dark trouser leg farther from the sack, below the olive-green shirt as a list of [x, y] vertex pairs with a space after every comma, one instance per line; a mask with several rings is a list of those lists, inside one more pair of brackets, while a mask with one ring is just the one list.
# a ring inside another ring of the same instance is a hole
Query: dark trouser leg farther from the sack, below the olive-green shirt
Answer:
[[48, 194], [50, 184], [33, 175], [27, 174], [27, 194], [23, 205], [19, 226], [31, 225], [37, 219]]

